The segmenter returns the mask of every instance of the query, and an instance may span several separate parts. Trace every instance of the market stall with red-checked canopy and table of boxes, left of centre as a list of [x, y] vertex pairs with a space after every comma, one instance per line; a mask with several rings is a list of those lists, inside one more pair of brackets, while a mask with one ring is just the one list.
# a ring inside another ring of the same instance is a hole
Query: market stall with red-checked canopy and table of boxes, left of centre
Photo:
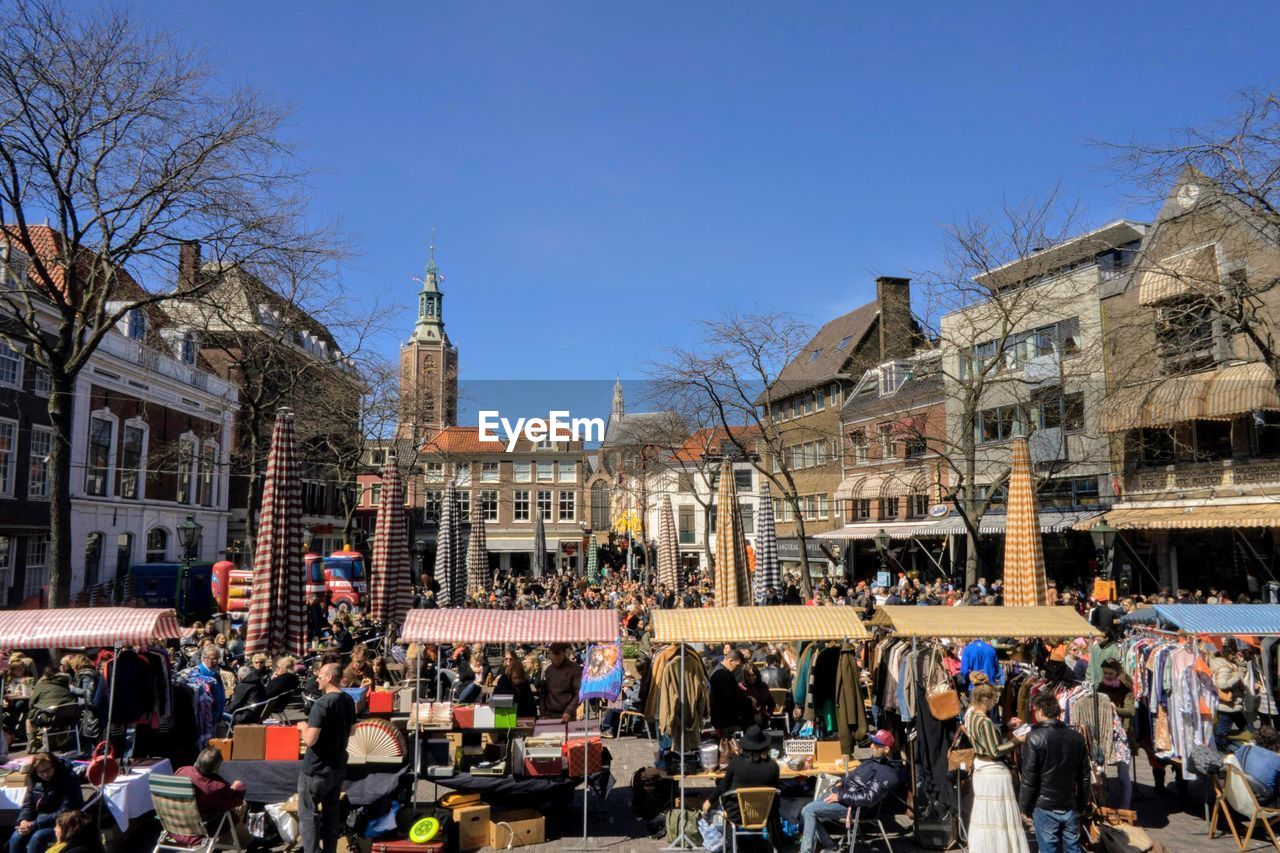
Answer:
[[[545, 646], [613, 643], [618, 639], [618, 617], [611, 610], [413, 610], [404, 619], [404, 628], [401, 631], [401, 640], [404, 643], [431, 646], [460, 643]], [[421, 656], [417, 660], [421, 667]], [[415, 678], [415, 685], [419, 683], [420, 678]], [[603, 768], [603, 742], [588, 736], [585, 726], [577, 736], [571, 738], [570, 729], [573, 724], [559, 724], [558, 731], [548, 731], [547, 726], [535, 729], [529, 722], [521, 724], [517, 735], [513, 710], [497, 706], [497, 699], [490, 699], [497, 707], [485, 708], [488, 713], [484, 719], [479, 719], [483, 713], [481, 706], [474, 710], [457, 706], [445, 710], [442, 706], [448, 703], [422, 703], [416, 698], [410, 720], [415, 733], [415, 795], [417, 777], [426, 762], [435, 762], [435, 767], [444, 771], [442, 775], [430, 774], [436, 784], [494, 797], [531, 794], [545, 798], [564, 794], [577, 785], [579, 779], [590, 789], [590, 775]], [[466, 772], [466, 763], [458, 762], [465, 754], [460, 754], [458, 751], [468, 748], [462, 740], [468, 736], [467, 733], [472, 738], [479, 735], [481, 751], [486, 748], [484, 742], [489, 740], [489, 747], [497, 748], [504, 758], [500, 762], [486, 761], [480, 767], [471, 767], [471, 772]], [[426, 735], [425, 751], [424, 735]], [[463, 772], [458, 774], [449, 768], [451, 758], [454, 767]], [[430, 770], [430, 765], [428, 766]], [[483, 776], [479, 774], [480, 768], [484, 770]], [[517, 775], [521, 779], [513, 779]], [[584, 794], [584, 845], [588, 840], [586, 806]], [[484, 822], [490, 822], [488, 804], [468, 808], [483, 809]]]

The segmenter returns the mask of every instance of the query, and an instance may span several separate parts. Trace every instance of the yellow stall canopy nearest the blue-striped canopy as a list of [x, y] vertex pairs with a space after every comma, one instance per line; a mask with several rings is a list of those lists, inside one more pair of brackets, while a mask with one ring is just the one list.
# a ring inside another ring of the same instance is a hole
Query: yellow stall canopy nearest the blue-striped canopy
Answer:
[[1070, 607], [878, 607], [872, 625], [895, 637], [1101, 637]]

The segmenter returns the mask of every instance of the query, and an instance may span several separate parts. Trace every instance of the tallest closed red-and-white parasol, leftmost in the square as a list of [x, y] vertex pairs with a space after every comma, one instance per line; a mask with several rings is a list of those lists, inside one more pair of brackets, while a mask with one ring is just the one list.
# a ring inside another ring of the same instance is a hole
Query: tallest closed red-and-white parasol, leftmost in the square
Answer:
[[302, 594], [302, 474], [293, 412], [275, 412], [253, 552], [253, 596], [244, 653], [301, 654], [306, 646]]

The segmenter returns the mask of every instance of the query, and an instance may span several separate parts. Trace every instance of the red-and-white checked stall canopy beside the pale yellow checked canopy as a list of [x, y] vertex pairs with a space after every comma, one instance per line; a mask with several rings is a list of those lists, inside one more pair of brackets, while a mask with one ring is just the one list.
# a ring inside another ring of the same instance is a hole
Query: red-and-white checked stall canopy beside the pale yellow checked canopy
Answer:
[[600, 643], [618, 638], [612, 610], [411, 610], [406, 643]]

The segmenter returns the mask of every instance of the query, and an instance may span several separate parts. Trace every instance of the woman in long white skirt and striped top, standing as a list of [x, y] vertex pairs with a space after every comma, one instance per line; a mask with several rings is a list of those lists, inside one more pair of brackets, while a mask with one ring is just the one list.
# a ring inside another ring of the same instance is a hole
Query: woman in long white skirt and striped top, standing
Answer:
[[1014, 794], [1014, 777], [1000, 761], [1014, 744], [1001, 742], [1000, 730], [987, 716], [998, 701], [998, 688], [978, 684], [964, 715], [964, 730], [974, 751], [969, 849], [983, 853], [1029, 853], [1023, 816]]

